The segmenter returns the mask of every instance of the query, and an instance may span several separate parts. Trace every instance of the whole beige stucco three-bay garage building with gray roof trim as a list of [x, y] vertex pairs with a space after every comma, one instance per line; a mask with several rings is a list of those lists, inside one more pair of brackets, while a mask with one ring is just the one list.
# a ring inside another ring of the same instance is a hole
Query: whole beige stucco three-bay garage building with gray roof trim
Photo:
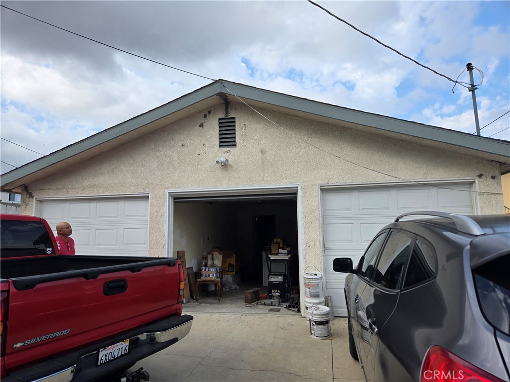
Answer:
[[338, 315], [335, 257], [358, 262], [402, 212], [504, 213], [507, 172], [507, 141], [218, 80], [4, 174], [2, 189], [22, 193], [22, 213], [68, 221], [78, 254], [184, 250], [197, 270], [219, 247], [262, 283], [264, 245], [283, 238], [301, 297], [319, 270]]

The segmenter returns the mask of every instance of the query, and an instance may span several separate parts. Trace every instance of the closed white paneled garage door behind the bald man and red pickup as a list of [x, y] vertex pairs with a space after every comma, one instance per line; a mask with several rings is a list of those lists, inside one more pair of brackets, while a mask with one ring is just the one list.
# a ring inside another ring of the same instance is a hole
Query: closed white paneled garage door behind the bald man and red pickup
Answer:
[[147, 196], [45, 200], [40, 211], [55, 234], [71, 225], [77, 255], [148, 256]]

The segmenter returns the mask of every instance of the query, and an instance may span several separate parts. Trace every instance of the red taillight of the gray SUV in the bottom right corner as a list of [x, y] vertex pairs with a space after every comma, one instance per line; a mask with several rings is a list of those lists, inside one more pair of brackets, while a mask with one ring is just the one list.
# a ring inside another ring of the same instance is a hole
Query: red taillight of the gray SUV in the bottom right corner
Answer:
[[420, 382], [503, 382], [487, 371], [471, 365], [441, 346], [432, 346], [421, 367]]

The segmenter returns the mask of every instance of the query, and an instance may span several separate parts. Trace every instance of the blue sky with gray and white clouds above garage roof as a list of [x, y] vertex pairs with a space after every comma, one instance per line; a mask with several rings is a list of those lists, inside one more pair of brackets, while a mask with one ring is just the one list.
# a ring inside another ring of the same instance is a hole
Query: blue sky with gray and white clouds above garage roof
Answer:
[[1, 1], [1, 173], [218, 78], [473, 133], [472, 63], [510, 140], [510, 2], [316, 3], [439, 74], [306, 0]]

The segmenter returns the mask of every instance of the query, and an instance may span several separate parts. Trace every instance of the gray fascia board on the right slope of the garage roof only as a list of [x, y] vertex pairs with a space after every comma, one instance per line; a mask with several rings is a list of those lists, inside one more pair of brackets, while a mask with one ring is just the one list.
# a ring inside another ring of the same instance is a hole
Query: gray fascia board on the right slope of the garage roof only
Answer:
[[448, 130], [417, 122], [360, 112], [341, 106], [311, 101], [286, 94], [274, 93], [256, 88], [248, 88], [240, 84], [228, 83], [227, 81], [223, 82], [227, 84], [226, 89], [230, 91], [225, 94], [234, 94], [234, 96], [238, 96], [240, 98], [252, 99], [254, 101], [281, 106], [321, 117], [405, 134], [410, 137], [422, 138], [429, 141], [447, 143], [472, 150], [510, 157], [510, 142], [501, 142], [485, 137], [478, 137], [477, 135], [461, 131]]

